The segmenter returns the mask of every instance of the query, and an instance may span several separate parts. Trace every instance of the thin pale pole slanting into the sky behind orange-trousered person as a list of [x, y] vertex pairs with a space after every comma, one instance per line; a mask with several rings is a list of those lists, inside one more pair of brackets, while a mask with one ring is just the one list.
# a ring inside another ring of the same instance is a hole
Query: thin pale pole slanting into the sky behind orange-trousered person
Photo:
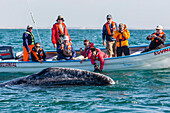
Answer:
[[27, 5], [28, 5], [28, 9], [29, 9], [30, 15], [31, 15], [31, 19], [32, 19], [32, 21], [33, 21], [33, 23], [34, 23], [34, 25], [35, 25], [35, 29], [36, 29], [36, 31], [37, 31], [37, 35], [38, 35], [38, 38], [39, 38], [39, 41], [40, 41], [40, 45], [41, 45], [41, 47], [43, 48], [43, 45], [42, 45], [42, 42], [41, 42], [40, 34], [39, 34], [39, 32], [38, 32], [38, 28], [37, 28], [37, 24], [36, 24], [35, 18], [34, 18], [34, 16], [33, 16], [33, 13], [32, 13], [32, 11], [31, 11], [30, 6], [29, 6], [28, 0], [26, 0], [26, 1], [27, 1]]

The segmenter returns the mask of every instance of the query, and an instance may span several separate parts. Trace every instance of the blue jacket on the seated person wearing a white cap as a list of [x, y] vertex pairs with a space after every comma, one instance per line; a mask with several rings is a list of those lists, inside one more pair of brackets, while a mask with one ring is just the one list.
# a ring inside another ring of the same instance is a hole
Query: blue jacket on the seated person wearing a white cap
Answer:
[[[64, 49], [68, 49], [68, 46], [64, 46]], [[73, 46], [71, 45], [71, 52], [72, 52], [72, 56], [71, 57], [66, 57], [64, 56], [62, 53], [63, 53], [63, 50], [59, 49], [57, 51], [59, 53], [58, 55], [58, 59], [65, 59], [65, 60], [70, 60], [72, 57], [76, 57], [76, 51], [74, 50]]]

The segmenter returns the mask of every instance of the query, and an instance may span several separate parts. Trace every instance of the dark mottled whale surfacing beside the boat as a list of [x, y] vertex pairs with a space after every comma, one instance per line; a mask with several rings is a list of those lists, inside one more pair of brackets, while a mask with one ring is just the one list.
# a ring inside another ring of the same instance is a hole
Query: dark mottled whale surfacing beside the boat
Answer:
[[85, 70], [51, 67], [41, 72], [1, 83], [9, 85], [61, 86], [61, 85], [110, 85], [115, 82], [108, 76]]

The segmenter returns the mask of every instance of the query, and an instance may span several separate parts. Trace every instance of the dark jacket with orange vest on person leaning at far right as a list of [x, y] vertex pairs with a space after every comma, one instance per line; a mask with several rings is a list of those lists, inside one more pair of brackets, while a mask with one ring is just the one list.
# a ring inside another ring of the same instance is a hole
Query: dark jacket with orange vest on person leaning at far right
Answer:
[[[156, 35], [156, 37], [152, 37], [154, 34]], [[153, 33], [151, 36], [148, 36], [146, 39], [151, 40], [151, 43], [149, 45], [150, 50], [160, 49], [164, 47], [164, 43], [166, 41], [166, 35], [163, 34], [162, 36], [160, 36], [159, 34]]]

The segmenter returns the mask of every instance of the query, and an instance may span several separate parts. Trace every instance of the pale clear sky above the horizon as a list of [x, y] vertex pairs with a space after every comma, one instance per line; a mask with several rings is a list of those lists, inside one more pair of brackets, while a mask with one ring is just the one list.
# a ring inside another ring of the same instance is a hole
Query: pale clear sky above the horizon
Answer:
[[[28, 4], [27, 4], [28, 1]], [[170, 29], [170, 0], [0, 0], [0, 28], [51, 28], [62, 15], [68, 28], [102, 28], [106, 15], [130, 29]]]

